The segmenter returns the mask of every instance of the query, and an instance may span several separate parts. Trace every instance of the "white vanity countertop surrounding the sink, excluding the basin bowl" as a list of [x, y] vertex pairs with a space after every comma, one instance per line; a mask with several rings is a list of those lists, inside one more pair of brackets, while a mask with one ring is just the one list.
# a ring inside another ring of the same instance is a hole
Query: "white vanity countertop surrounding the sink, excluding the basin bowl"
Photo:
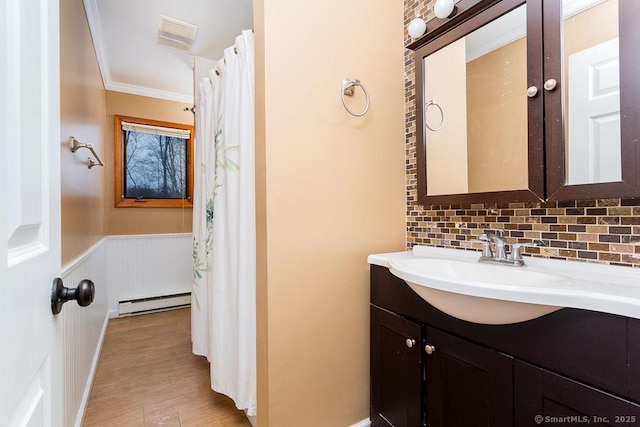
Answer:
[[[369, 264], [389, 268], [405, 281], [416, 282], [419, 271], [408, 271], [402, 261], [436, 258], [477, 263], [480, 252], [415, 246], [412, 251], [369, 255]], [[543, 286], [496, 284], [488, 280], [423, 280], [420, 285], [461, 295], [529, 304], [594, 310], [640, 319], [640, 268], [524, 257], [523, 267], [491, 265], [498, 269], [525, 269], [560, 276]], [[406, 264], [406, 263], [405, 263]], [[501, 273], [505, 273], [504, 270]], [[566, 280], [564, 280], [566, 279]]]

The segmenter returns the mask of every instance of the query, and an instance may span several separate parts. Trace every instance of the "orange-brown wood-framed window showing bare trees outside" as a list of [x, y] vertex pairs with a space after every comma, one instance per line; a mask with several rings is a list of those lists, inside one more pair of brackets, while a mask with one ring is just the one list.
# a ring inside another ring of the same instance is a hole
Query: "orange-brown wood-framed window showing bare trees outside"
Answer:
[[193, 126], [115, 116], [115, 206], [192, 207]]

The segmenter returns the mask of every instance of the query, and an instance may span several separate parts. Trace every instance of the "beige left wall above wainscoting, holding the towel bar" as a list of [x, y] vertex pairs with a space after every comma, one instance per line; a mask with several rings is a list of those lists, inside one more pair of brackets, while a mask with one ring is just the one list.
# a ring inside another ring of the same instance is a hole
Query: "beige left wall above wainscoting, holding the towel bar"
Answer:
[[105, 154], [105, 91], [82, 1], [60, 2], [60, 170], [62, 264], [105, 235], [105, 169], [87, 168], [88, 150], [70, 151], [69, 137]]

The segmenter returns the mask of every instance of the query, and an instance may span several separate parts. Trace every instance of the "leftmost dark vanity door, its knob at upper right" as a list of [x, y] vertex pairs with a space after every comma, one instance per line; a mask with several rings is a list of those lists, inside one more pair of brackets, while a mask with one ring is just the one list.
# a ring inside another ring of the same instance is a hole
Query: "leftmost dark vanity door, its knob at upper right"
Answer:
[[371, 423], [423, 425], [422, 330], [417, 323], [371, 306]]

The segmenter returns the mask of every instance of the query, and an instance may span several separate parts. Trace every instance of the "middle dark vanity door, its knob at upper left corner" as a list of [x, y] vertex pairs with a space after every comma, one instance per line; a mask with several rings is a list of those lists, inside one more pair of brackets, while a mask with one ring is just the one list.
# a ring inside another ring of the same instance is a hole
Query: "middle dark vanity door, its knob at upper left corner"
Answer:
[[425, 345], [428, 426], [513, 425], [511, 357], [430, 327]]

